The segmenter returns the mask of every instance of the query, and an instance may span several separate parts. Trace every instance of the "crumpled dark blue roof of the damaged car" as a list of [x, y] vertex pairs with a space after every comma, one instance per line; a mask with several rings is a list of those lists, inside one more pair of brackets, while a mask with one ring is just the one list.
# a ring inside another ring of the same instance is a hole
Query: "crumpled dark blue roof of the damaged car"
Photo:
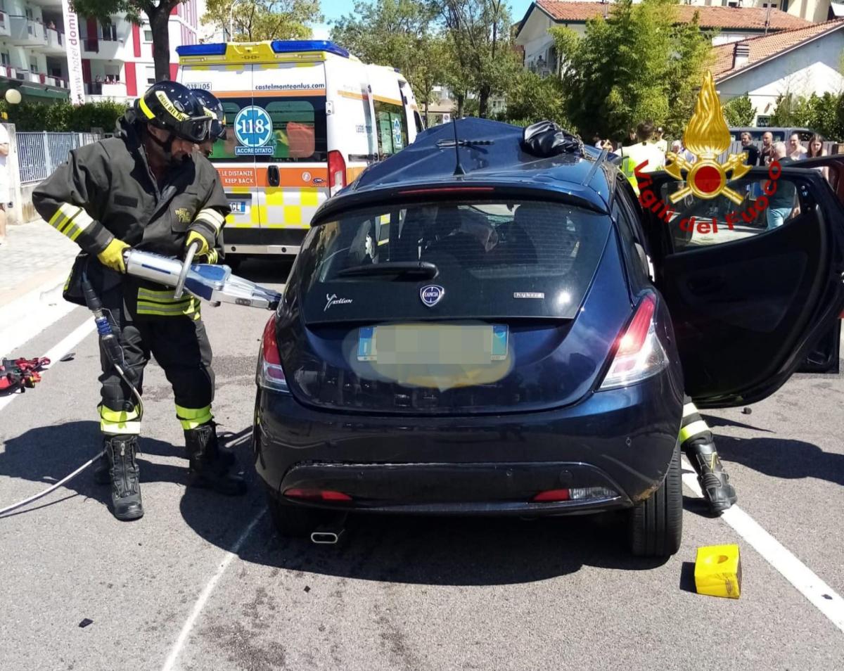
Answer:
[[[522, 148], [523, 132], [522, 127], [474, 117], [429, 128], [398, 154], [368, 167], [352, 185], [329, 199], [315, 220], [327, 211], [387, 194], [448, 187], [530, 190], [534, 196], [548, 192], [555, 198], [571, 197], [607, 211], [610, 186], [605, 170], [610, 168], [609, 162], [595, 165], [601, 154], [598, 149], [584, 147], [583, 154], [538, 157]], [[455, 133], [461, 143], [458, 151], [464, 175], [455, 175]]]

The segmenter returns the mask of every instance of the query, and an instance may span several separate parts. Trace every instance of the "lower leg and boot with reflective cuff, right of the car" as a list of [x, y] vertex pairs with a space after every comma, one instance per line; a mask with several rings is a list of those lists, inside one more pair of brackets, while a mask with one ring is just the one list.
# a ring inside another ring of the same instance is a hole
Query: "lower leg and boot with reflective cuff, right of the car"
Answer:
[[720, 514], [738, 501], [738, 495], [727, 471], [718, 458], [712, 432], [690, 398], [685, 399], [680, 446], [697, 473], [697, 481], [714, 514]]

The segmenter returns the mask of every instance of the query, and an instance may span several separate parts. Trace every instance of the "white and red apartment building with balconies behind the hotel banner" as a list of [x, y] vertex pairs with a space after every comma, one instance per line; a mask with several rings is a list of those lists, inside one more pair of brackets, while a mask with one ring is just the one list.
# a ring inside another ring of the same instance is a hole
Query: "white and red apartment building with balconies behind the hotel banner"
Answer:
[[[149, 23], [78, 17], [85, 100], [131, 100], [155, 79]], [[170, 73], [176, 46], [197, 43], [197, 0], [170, 16]], [[24, 100], [67, 99], [68, 51], [62, 0], [0, 0], [0, 95], [19, 89]]]

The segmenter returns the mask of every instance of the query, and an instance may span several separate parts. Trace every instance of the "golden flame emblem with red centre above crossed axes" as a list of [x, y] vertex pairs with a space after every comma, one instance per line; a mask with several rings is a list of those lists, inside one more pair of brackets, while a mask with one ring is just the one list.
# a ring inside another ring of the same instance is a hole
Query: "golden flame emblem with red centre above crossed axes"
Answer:
[[677, 203], [690, 193], [707, 200], [723, 194], [733, 203], [740, 205], [743, 198], [728, 187], [727, 183], [746, 175], [751, 166], [744, 163], [747, 158], [744, 153], [729, 154], [724, 163], [717, 161], [718, 154], [730, 146], [731, 138], [711, 72], [707, 72], [703, 78], [703, 86], [695, 103], [695, 113], [683, 133], [683, 141], [697, 156], [697, 160], [690, 163], [674, 152], [669, 151], [665, 154], [668, 160], [665, 171], [670, 176], [682, 181], [683, 171], [686, 173], [686, 186], [668, 196], [668, 200]]

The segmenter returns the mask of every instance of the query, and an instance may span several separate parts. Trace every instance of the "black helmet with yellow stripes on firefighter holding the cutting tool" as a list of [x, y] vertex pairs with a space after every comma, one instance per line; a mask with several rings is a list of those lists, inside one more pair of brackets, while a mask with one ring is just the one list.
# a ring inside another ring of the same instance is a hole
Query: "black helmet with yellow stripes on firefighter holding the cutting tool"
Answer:
[[176, 138], [201, 143], [211, 132], [214, 114], [205, 109], [187, 86], [178, 82], [159, 82], [138, 98], [138, 118]]

